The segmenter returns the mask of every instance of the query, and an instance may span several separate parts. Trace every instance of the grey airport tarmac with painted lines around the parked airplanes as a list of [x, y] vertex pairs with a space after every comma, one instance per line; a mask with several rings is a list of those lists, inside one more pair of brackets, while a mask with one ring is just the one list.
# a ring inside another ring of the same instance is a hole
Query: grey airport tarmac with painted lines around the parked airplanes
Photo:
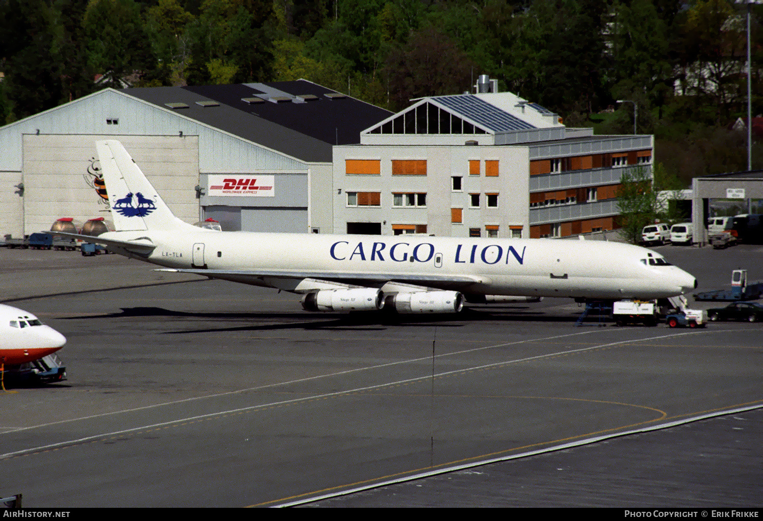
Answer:
[[[763, 279], [760, 246], [655, 250], [697, 290]], [[112, 254], [0, 266], [2, 301], [68, 339], [66, 382], [0, 392], [24, 507], [760, 507], [758, 323], [320, 314]]]

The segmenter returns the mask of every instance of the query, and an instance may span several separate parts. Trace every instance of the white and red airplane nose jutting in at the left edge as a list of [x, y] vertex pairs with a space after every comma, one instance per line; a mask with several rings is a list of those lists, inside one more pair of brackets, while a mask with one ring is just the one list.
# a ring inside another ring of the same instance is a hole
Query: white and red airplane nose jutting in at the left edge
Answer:
[[0, 363], [5, 369], [40, 360], [66, 344], [66, 337], [40, 319], [11, 305], [0, 304]]

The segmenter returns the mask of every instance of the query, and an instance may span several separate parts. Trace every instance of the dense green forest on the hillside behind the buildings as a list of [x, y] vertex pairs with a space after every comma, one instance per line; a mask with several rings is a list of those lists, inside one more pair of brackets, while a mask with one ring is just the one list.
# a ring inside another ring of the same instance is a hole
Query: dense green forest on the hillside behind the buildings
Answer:
[[[597, 133], [655, 134], [666, 174], [746, 170], [732, 0], [0, 0], [0, 124], [101, 88], [306, 78], [390, 110], [480, 74]], [[763, 5], [752, 6], [753, 116]], [[753, 168], [763, 168], [756, 143]]]

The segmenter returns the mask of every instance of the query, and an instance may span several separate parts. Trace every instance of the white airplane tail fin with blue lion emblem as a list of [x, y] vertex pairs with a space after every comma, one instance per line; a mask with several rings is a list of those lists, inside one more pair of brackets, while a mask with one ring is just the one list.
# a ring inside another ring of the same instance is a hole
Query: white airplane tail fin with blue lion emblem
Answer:
[[106, 183], [114, 228], [118, 231], [173, 230], [188, 225], [172, 214], [121, 142], [95, 142]]

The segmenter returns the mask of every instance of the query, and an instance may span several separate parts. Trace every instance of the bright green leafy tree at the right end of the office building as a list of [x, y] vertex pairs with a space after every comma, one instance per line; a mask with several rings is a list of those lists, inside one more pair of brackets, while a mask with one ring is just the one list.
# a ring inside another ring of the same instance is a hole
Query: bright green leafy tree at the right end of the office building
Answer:
[[617, 209], [620, 210], [620, 235], [638, 244], [641, 230], [655, 222], [657, 214], [657, 193], [649, 168], [639, 166], [623, 171], [617, 190]]

